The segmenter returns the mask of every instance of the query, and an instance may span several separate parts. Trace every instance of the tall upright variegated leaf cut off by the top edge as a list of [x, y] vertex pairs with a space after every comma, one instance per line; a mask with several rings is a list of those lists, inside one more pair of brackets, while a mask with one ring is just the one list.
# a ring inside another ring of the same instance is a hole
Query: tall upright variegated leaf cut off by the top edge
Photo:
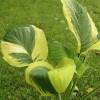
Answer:
[[97, 41], [98, 31], [90, 15], [76, 0], [61, 0], [69, 30], [74, 34], [80, 53]]

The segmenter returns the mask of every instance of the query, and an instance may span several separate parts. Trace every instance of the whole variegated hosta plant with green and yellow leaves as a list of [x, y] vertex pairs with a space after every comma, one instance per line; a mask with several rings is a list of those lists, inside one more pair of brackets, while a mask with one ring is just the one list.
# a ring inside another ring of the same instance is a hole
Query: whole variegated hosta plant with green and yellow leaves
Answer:
[[[57, 40], [47, 41], [41, 29], [30, 25], [7, 32], [1, 40], [1, 51], [10, 65], [27, 67], [26, 82], [42, 96], [59, 94], [61, 99], [60, 94], [66, 91], [66, 100], [70, 100], [77, 80], [89, 68], [86, 62], [90, 52], [100, 51], [100, 40], [96, 26], [84, 7], [76, 0], [61, 0], [61, 3], [68, 27], [66, 34], [75, 38], [73, 48]], [[82, 97], [82, 100], [90, 95]]]

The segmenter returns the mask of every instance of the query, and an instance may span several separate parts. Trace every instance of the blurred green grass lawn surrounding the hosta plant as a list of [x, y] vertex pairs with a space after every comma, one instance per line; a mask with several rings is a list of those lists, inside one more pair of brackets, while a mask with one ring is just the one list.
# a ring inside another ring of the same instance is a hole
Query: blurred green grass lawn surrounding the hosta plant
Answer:
[[[87, 7], [100, 32], [100, 0], [80, 1]], [[65, 43], [66, 24], [60, 0], [0, 0], [0, 38], [6, 30], [30, 24], [42, 28], [47, 38]], [[88, 63], [91, 69], [78, 82], [83, 91], [81, 95], [100, 84], [100, 55], [98, 59], [94, 55]], [[42, 100], [35, 89], [26, 84], [24, 70], [11, 67], [0, 57], [0, 100]], [[100, 90], [89, 100], [100, 100]]]

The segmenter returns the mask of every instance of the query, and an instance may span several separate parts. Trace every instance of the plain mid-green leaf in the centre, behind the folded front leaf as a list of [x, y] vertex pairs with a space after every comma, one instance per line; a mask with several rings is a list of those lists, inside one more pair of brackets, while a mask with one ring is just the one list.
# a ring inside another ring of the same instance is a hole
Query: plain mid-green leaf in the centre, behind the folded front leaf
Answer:
[[64, 47], [58, 41], [49, 41], [48, 49], [48, 61], [54, 66], [57, 65], [64, 57], [67, 57]]

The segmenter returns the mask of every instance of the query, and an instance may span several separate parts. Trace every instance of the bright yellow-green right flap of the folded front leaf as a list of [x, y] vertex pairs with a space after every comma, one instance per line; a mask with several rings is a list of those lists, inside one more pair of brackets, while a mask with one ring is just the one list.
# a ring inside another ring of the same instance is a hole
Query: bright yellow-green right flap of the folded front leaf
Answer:
[[56, 69], [48, 72], [49, 79], [58, 93], [63, 93], [69, 86], [74, 73], [76, 72], [76, 65], [72, 59], [63, 58]]

